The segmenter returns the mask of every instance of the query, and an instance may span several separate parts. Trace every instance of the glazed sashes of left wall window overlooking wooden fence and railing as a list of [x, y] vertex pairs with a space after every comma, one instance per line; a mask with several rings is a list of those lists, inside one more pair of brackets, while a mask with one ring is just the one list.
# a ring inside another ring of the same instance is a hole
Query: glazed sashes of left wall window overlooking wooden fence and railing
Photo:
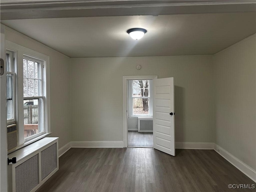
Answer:
[[24, 138], [44, 133], [44, 90], [41, 60], [23, 57]]

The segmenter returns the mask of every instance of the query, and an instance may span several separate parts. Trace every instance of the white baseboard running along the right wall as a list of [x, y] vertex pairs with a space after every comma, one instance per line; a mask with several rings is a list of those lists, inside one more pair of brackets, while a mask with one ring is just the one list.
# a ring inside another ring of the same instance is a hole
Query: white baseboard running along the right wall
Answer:
[[246, 165], [244, 162], [240, 161], [234, 155], [230, 154], [228, 151], [224, 150], [222, 147], [215, 144], [214, 150], [225, 158], [228, 162], [238, 168], [242, 173], [248, 176], [251, 180], [256, 182], [256, 171]]

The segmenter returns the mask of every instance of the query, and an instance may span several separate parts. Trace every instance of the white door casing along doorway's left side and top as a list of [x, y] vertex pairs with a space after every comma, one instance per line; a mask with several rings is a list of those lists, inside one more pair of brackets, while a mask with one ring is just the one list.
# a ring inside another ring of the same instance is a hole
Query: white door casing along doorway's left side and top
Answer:
[[157, 75], [138, 75], [138, 76], [123, 76], [123, 136], [124, 136], [124, 148], [128, 146], [128, 128], [127, 128], [127, 118], [128, 118], [128, 108], [127, 108], [127, 92], [128, 92], [128, 80], [152, 80], [157, 79]]

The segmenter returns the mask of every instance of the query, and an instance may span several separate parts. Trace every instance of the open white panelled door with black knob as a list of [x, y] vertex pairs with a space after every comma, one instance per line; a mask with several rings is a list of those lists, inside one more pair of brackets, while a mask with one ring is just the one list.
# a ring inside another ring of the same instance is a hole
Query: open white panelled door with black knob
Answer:
[[154, 148], [175, 156], [173, 77], [153, 80]]

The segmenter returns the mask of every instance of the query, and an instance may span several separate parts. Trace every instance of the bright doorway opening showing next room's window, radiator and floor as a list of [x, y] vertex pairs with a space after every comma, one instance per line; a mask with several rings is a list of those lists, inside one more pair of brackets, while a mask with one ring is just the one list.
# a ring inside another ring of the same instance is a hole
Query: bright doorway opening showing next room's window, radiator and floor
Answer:
[[153, 147], [152, 80], [128, 80], [128, 147]]

